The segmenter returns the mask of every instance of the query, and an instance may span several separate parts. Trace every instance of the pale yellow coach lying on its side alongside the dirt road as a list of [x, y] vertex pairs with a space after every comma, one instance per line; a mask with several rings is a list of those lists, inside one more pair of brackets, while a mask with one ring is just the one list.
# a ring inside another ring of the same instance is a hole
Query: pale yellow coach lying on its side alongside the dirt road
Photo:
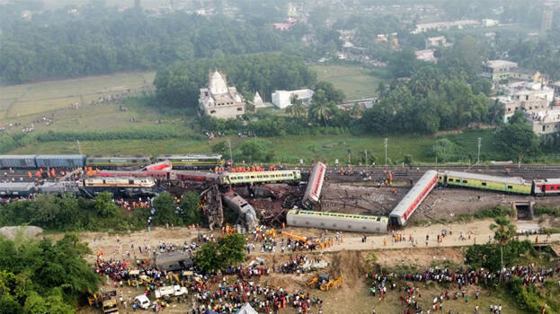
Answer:
[[286, 214], [291, 227], [337, 231], [386, 233], [389, 220], [383, 216], [341, 214], [292, 209]]

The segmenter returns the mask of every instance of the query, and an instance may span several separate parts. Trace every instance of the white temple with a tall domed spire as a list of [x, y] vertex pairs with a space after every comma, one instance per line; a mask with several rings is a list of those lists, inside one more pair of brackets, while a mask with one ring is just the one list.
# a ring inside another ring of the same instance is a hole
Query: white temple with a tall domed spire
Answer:
[[208, 88], [200, 89], [200, 110], [216, 118], [241, 118], [245, 113], [245, 100], [237, 89], [227, 86], [226, 74], [209, 73]]

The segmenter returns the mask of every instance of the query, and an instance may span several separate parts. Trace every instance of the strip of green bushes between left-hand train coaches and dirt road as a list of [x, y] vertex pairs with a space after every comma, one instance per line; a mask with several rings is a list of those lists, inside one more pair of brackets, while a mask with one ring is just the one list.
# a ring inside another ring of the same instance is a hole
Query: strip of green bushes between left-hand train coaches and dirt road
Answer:
[[156, 225], [190, 225], [203, 222], [199, 196], [189, 192], [175, 205], [173, 196], [163, 193], [154, 199], [156, 214], [150, 209], [126, 211], [116, 205], [110, 193], [94, 199], [81, 196], [37, 195], [32, 200], [0, 206], [0, 226], [31, 224], [49, 231], [129, 231], [147, 227], [152, 216]]

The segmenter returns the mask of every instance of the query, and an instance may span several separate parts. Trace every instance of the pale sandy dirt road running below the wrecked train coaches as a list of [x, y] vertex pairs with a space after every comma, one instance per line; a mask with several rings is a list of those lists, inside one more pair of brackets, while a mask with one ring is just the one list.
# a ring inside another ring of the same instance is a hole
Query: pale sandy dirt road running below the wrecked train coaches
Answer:
[[[451, 224], [431, 224], [428, 226], [406, 227], [403, 230], [396, 231], [396, 234], [402, 235], [403, 241], [395, 242], [391, 234], [366, 234], [368, 236], [366, 242], [362, 242], [360, 233], [341, 232], [342, 241], [334, 241], [334, 245], [324, 251], [342, 251], [342, 250], [371, 250], [371, 249], [414, 249], [414, 248], [442, 248], [442, 247], [465, 247], [473, 244], [488, 243], [493, 240], [493, 231], [490, 229], [492, 219], [478, 220], [474, 222], [451, 223]], [[445, 230], [447, 236], [438, 242], [438, 234]], [[201, 230], [208, 234], [209, 230]], [[321, 232], [314, 229], [298, 229], [287, 228], [287, 231], [301, 236], [318, 236], [323, 233], [326, 237], [335, 237], [335, 231]], [[463, 232], [465, 240], [460, 240], [459, 236]], [[173, 243], [175, 246], [182, 247], [184, 242], [191, 243], [196, 240], [198, 231], [188, 228], [174, 228], [167, 230], [165, 228], [154, 228], [151, 232], [138, 231], [123, 235], [108, 236], [102, 232], [84, 232], [81, 238], [88, 243], [94, 253], [103, 251], [106, 258], [128, 258], [133, 257], [151, 257], [150, 252], [144, 249], [146, 246], [153, 248], [164, 242], [165, 244]], [[214, 231], [219, 236], [220, 231]], [[469, 236], [470, 234], [470, 236]], [[413, 238], [413, 243], [409, 240]], [[426, 236], [429, 237], [426, 244]], [[101, 240], [99, 240], [101, 237]], [[529, 239], [531, 241], [543, 243], [545, 241], [560, 241], [560, 234], [553, 234], [549, 239], [545, 235], [530, 235], [529, 237], [520, 236], [520, 240]], [[278, 239], [278, 238], [277, 238]], [[281, 236], [280, 236], [281, 239]], [[249, 240], [251, 242], [251, 240]], [[131, 249], [134, 244], [135, 249]], [[143, 251], [140, 254], [138, 246], [142, 246]], [[275, 253], [262, 254], [259, 250], [259, 244], [255, 243], [256, 251], [252, 251], [251, 255], [280, 255], [280, 249], [277, 248]], [[127, 252], [130, 257], [127, 257]], [[291, 254], [288, 250], [284, 254]], [[91, 256], [93, 261], [94, 256]]]

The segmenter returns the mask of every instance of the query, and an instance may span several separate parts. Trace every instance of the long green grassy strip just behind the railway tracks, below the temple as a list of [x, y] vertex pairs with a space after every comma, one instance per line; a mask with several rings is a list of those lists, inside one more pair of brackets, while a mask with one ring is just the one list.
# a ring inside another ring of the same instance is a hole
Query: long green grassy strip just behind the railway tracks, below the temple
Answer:
[[[218, 138], [211, 144], [231, 139], [232, 148], [241, 144], [247, 137], [230, 136]], [[309, 164], [312, 159], [317, 161], [326, 160], [334, 164], [336, 159], [340, 164], [348, 161], [348, 150], [351, 150], [351, 163], [357, 164], [359, 158], [365, 157], [364, 151], [368, 150], [368, 160], [371, 163], [372, 156], [378, 159], [377, 164], [385, 161], [385, 148], [383, 137], [377, 136], [286, 136], [280, 138], [267, 138], [273, 144], [276, 152], [275, 161], [289, 164], [297, 164], [303, 159]], [[392, 161], [401, 161], [404, 154], [411, 154], [416, 161], [426, 161], [423, 157], [435, 138], [422, 136], [415, 137], [399, 136], [389, 137], [387, 157]], [[174, 138], [167, 140], [113, 140], [113, 141], [80, 141], [82, 152], [90, 155], [97, 154], [147, 154], [157, 155], [160, 153], [209, 153], [211, 144], [189, 137]], [[49, 142], [31, 144], [18, 148], [10, 153], [77, 153], [78, 148], [73, 142]]]

